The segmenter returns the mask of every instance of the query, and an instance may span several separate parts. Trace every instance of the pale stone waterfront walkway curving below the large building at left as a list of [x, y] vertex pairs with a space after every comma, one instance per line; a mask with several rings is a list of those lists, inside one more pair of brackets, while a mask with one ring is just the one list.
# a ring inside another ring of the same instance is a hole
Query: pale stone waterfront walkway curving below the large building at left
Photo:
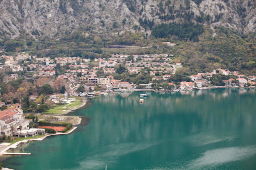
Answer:
[[29, 139], [29, 140], [25, 140], [25, 139], [24, 139], [23, 141], [18, 141], [18, 142], [16, 142], [16, 143], [11, 144], [11, 145], [9, 145], [8, 147], [4, 148], [4, 149], [0, 152], [0, 156], [4, 155], [4, 153], [5, 153], [6, 151], [8, 151], [9, 149], [17, 147], [17, 146], [18, 146], [19, 144], [21, 144], [21, 143], [27, 143], [27, 142], [29, 142], [29, 141], [42, 141], [42, 140], [44, 140], [46, 137], [49, 137], [49, 136], [67, 135], [67, 134], [72, 133], [76, 128], [77, 128], [77, 127], [72, 127], [72, 129], [71, 129], [69, 132], [67, 132], [67, 133], [57, 132], [57, 133], [55, 133], [55, 134], [45, 135], [45, 136], [43, 136], [43, 137], [41, 137], [41, 138]]

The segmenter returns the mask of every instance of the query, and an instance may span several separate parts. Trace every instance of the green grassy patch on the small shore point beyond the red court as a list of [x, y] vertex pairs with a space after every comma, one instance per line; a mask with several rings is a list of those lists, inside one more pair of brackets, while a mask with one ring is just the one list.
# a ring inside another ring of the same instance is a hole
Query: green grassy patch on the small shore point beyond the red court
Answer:
[[81, 106], [82, 101], [78, 97], [75, 97], [75, 99], [76, 100], [71, 103], [66, 103], [61, 106], [56, 106], [43, 113], [44, 114], [66, 114], [70, 109], [77, 109]]

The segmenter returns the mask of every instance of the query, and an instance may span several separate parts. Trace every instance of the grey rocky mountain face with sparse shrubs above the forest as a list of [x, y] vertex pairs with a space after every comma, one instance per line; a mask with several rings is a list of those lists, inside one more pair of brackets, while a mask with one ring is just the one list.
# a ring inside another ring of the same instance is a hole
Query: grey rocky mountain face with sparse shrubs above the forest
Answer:
[[0, 38], [60, 38], [70, 31], [146, 31], [162, 22], [195, 21], [255, 31], [255, 0], [0, 0]]

